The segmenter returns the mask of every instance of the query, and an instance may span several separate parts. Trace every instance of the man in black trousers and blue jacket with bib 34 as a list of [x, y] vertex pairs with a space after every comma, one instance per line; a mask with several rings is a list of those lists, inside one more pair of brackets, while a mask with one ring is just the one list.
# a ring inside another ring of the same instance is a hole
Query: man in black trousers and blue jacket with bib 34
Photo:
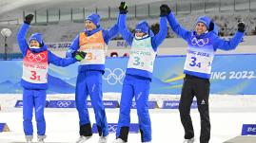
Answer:
[[214, 24], [207, 16], [199, 17], [195, 30], [189, 31], [178, 24], [167, 5], [163, 5], [163, 7], [168, 10], [167, 21], [172, 30], [187, 41], [187, 58], [184, 66], [186, 76], [179, 105], [181, 121], [185, 129], [185, 143], [194, 141], [194, 131], [190, 117], [190, 106], [194, 96], [197, 98], [201, 117], [200, 143], [208, 143], [210, 138], [209, 79], [214, 54], [217, 49], [235, 49], [243, 39], [246, 25], [240, 22], [238, 31], [233, 38], [225, 41], [218, 37], [217, 27], [214, 28]]

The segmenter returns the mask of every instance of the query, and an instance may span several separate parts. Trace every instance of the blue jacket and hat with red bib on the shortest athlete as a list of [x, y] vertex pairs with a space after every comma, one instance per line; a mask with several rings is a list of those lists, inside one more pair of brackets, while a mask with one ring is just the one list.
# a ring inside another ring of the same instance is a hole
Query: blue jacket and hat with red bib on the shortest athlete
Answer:
[[23, 77], [21, 85], [26, 89], [46, 90], [48, 89], [48, 68], [49, 63], [58, 66], [68, 66], [75, 63], [74, 58], [59, 58], [48, 50], [48, 46], [44, 45], [40, 33], [35, 33], [30, 40], [36, 40], [41, 47], [30, 49], [26, 41], [26, 35], [30, 25], [23, 24], [20, 28], [17, 41], [23, 55]]

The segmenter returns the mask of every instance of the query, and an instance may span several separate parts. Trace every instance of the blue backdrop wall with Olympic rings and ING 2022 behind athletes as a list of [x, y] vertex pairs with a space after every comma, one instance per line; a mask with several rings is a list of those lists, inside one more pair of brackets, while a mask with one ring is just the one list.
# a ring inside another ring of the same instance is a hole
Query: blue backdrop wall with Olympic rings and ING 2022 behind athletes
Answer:
[[[179, 95], [183, 84], [185, 56], [157, 57], [152, 94]], [[104, 92], [121, 92], [128, 58], [108, 58], [103, 76]], [[1, 61], [0, 94], [22, 93], [22, 61]], [[75, 90], [77, 63], [68, 67], [49, 66], [50, 94], [71, 94]], [[211, 94], [256, 94], [256, 55], [216, 55], [212, 63]]]

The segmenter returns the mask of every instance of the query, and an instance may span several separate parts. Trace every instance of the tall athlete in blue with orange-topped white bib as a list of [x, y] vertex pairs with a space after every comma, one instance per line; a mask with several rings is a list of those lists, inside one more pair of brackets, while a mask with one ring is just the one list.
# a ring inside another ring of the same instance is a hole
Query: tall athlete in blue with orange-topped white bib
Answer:
[[76, 80], [75, 101], [79, 114], [80, 137], [77, 143], [88, 140], [91, 133], [87, 98], [90, 97], [100, 135], [99, 143], [108, 139], [108, 123], [103, 105], [102, 74], [105, 71], [105, 59], [109, 40], [118, 33], [117, 25], [108, 30], [100, 26], [100, 16], [92, 13], [86, 18], [85, 31], [73, 40], [67, 52], [70, 57], [74, 51], [87, 52], [86, 59], [80, 62]]

